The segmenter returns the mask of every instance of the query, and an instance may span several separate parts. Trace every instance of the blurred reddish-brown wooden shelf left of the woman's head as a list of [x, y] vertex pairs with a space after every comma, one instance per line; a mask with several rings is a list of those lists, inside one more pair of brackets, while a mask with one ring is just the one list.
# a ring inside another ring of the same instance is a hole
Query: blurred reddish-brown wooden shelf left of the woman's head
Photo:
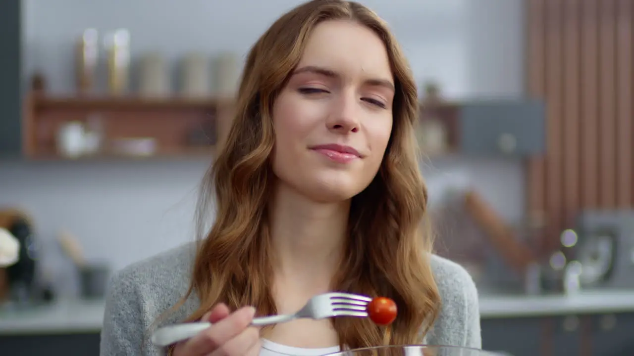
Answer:
[[[233, 115], [233, 100], [215, 97], [58, 97], [31, 92], [24, 105], [22, 150], [30, 160], [210, 157], [222, 144]], [[96, 129], [102, 137], [100, 148], [75, 157], [60, 155], [60, 131], [70, 123]], [[134, 146], [148, 139], [153, 148], [146, 153], [115, 148], [122, 140]]]

